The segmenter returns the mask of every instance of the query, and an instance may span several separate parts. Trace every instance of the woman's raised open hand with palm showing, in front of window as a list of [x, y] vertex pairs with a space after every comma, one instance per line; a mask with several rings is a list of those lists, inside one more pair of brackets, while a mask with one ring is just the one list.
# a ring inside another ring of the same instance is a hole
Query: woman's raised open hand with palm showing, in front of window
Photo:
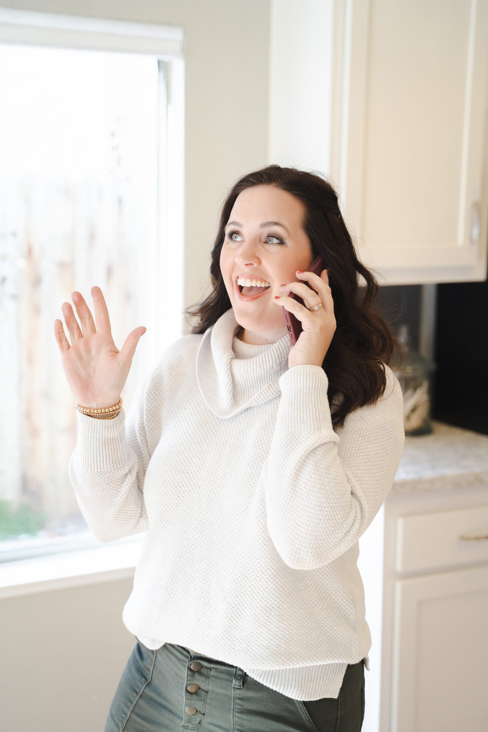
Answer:
[[127, 381], [135, 347], [146, 328], [135, 328], [119, 351], [113, 343], [110, 318], [100, 287], [91, 288], [95, 321], [83, 295], [73, 292], [71, 299], [80, 319], [81, 329], [69, 302], [61, 311], [70, 334], [71, 346], [62, 321], [54, 322], [54, 337], [61, 352], [61, 362], [70, 389], [78, 404], [102, 408], [116, 404]]

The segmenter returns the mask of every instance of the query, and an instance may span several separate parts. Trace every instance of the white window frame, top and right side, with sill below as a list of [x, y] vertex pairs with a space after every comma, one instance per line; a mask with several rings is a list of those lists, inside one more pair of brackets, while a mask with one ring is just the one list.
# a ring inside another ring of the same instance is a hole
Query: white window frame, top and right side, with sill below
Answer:
[[[183, 29], [155, 23], [0, 8], [0, 43], [157, 56], [157, 330], [161, 332], [164, 321], [170, 339], [181, 336], [184, 307]], [[161, 144], [162, 141], [166, 144]], [[0, 597], [132, 576], [142, 541], [140, 535], [102, 546], [96, 540], [74, 540], [62, 547], [52, 545], [9, 552], [0, 561]], [[38, 581], [32, 580], [32, 572], [36, 573]]]

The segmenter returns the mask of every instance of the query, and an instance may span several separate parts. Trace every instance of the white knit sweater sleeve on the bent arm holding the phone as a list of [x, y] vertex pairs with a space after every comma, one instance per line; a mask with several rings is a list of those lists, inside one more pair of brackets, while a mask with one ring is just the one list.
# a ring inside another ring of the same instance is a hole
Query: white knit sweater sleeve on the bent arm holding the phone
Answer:
[[402, 455], [402, 392], [386, 368], [383, 397], [332, 429], [328, 381], [318, 366], [290, 368], [263, 474], [266, 520], [282, 560], [316, 569], [366, 531], [386, 498]]

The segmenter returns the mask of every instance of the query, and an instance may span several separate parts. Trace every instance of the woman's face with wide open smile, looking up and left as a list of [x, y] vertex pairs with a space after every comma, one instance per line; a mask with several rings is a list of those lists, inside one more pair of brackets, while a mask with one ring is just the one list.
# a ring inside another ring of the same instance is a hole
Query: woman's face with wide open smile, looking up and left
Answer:
[[304, 214], [298, 198], [273, 186], [247, 188], [236, 198], [225, 226], [220, 270], [247, 343], [273, 343], [287, 332], [274, 296], [282, 294], [279, 285], [298, 280], [297, 269], [307, 271], [312, 263]]

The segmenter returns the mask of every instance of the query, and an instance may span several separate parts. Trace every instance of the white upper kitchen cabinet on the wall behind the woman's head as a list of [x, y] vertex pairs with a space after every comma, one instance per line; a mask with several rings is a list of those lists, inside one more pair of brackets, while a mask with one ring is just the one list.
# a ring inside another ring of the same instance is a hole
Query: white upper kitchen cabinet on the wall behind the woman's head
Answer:
[[270, 162], [331, 176], [383, 283], [486, 277], [487, 90], [488, 0], [272, 2]]

